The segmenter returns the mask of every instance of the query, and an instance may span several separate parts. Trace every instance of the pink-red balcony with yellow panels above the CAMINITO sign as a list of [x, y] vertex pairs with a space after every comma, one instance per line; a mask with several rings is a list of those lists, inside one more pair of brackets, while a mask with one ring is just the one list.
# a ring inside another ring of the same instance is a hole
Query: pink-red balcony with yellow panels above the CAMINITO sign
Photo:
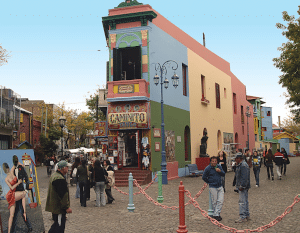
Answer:
[[148, 101], [149, 83], [144, 79], [107, 82], [107, 102]]

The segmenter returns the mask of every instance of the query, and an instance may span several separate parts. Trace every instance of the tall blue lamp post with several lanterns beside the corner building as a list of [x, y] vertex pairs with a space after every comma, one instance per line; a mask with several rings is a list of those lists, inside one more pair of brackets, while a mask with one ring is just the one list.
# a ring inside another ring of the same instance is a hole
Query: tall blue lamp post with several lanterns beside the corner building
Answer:
[[[166, 162], [166, 148], [165, 148], [165, 123], [164, 123], [164, 98], [163, 98], [163, 87], [169, 87], [169, 80], [167, 79], [167, 67], [166, 65], [172, 65], [172, 69], [174, 70], [174, 75], [172, 76], [172, 84], [175, 88], [178, 87], [179, 77], [175, 73], [175, 70], [178, 68], [177, 62], [173, 60], [166, 61], [163, 65], [159, 63], [155, 64], [156, 75], [154, 76], [154, 84], [157, 86], [160, 79], [161, 85], [161, 172], [162, 172], [162, 184], [168, 184], [168, 170], [167, 170], [167, 162]], [[157, 72], [160, 73], [160, 76], [157, 75]], [[165, 80], [163, 81], [163, 76], [165, 76]]]

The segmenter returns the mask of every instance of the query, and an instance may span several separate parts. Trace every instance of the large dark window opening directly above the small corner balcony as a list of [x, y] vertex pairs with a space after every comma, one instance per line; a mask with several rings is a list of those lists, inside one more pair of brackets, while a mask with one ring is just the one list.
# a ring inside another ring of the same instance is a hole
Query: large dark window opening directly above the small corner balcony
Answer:
[[141, 48], [113, 50], [113, 81], [141, 79]]

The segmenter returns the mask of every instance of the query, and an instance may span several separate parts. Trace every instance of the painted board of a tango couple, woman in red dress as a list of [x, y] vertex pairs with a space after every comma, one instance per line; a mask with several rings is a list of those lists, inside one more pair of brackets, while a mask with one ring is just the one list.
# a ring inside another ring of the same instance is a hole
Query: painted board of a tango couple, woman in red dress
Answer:
[[[8, 232], [8, 228], [11, 232], [45, 231], [34, 160], [31, 149], [0, 150], [0, 224], [4, 232]], [[7, 183], [11, 186], [19, 184], [17, 189], [11, 189]], [[20, 200], [14, 198], [17, 192]], [[8, 224], [10, 211], [14, 212], [11, 225]], [[21, 214], [24, 212], [26, 221]]]

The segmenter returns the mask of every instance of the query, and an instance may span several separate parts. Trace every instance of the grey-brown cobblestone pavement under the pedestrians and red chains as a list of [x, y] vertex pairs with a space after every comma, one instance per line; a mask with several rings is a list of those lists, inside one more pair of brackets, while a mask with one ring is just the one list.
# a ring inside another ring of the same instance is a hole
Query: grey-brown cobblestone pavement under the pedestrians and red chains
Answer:
[[[285, 209], [290, 206], [296, 195], [300, 194], [299, 171], [300, 158], [291, 158], [291, 164], [287, 166], [287, 175], [282, 180], [270, 181], [267, 179], [265, 167], [260, 172], [260, 187], [255, 187], [254, 173], [251, 170], [251, 186], [249, 190], [249, 206], [251, 220], [246, 223], [237, 224], [234, 220], [238, 219], [238, 194], [233, 192], [232, 181], [233, 172], [226, 174], [226, 192], [225, 201], [221, 216], [226, 226], [242, 229], [256, 229], [266, 225], [281, 215]], [[52, 225], [51, 213], [45, 212], [45, 203], [48, 188], [48, 177], [46, 168], [37, 169], [43, 218], [46, 232]], [[274, 169], [276, 174], [276, 169]], [[163, 186], [164, 205], [178, 206], [178, 186], [183, 181], [186, 190], [189, 190], [192, 196], [196, 195], [202, 188], [204, 181], [201, 177], [182, 177], [169, 181], [168, 185]], [[143, 186], [145, 187], [145, 186]], [[94, 207], [95, 192], [91, 190], [91, 201], [87, 202], [87, 207], [81, 207], [79, 199], [75, 199], [75, 186], [70, 187], [72, 214], [68, 214], [66, 231], [69, 232], [105, 232], [105, 233], [131, 233], [131, 232], [176, 232], [179, 225], [178, 210], [163, 209], [155, 206], [144, 195], [134, 196], [135, 210], [129, 213], [127, 210], [128, 196], [125, 196], [115, 189], [112, 189], [116, 201], [105, 207]], [[120, 188], [128, 192], [128, 188]], [[134, 192], [138, 191], [134, 188]], [[157, 199], [158, 185], [154, 183], [146, 193], [153, 199]], [[185, 198], [185, 202], [188, 199]], [[197, 199], [200, 207], [207, 211], [208, 209], [208, 188], [204, 190]], [[229, 232], [213, 225], [208, 219], [201, 215], [201, 212], [192, 205], [185, 208], [186, 226], [188, 232], [208, 233], [208, 232]], [[281, 222], [264, 232], [276, 233], [294, 233], [300, 232], [299, 224], [300, 202], [297, 203], [293, 211], [288, 214]]]

